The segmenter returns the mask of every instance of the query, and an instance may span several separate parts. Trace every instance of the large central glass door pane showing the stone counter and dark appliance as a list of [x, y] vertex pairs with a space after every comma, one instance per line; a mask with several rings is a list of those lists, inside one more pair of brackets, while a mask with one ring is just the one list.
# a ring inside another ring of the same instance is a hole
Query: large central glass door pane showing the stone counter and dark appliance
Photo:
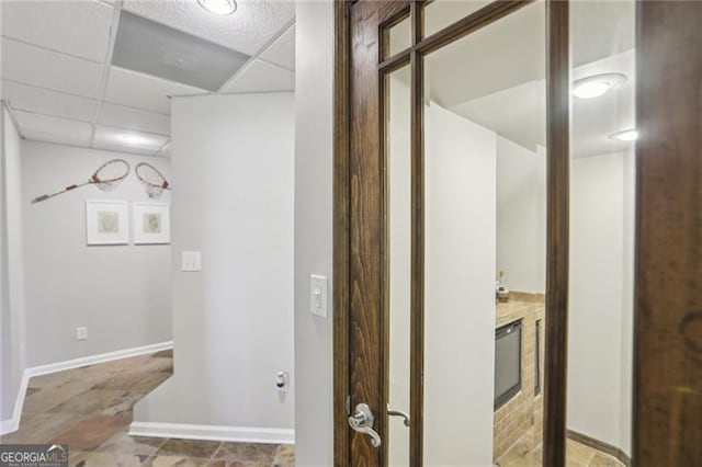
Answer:
[[545, 10], [426, 57], [424, 465], [540, 465]]

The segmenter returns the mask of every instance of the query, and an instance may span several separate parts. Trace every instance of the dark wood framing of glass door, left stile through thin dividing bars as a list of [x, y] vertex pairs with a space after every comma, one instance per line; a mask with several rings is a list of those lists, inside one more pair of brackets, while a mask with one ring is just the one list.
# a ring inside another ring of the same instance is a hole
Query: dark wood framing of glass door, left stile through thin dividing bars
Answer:
[[[387, 465], [387, 280], [384, 73], [411, 69], [411, 466], [422, 465], [423, 400], [423, 56], [528, 5], [496, 1], [424, 37], [422, 2], [337, 2], [335, 141], [335, 465]], [[546, 465], [565, 458], [567, 291], [567, 2], [548, 1], [550, 291], [546, 352]], [[408, 20], [408, 47], [389, 56], [388, 29]], [[551, 378], [551, 379], [550, 379]], [[553, 381], [553, 384], [548, 384]], [[366, 405], [372, 430], [351, 430]], [[353, 421], [351, 422], [353, 423]], [[380, 438], [380, 445], [377, 440]]]

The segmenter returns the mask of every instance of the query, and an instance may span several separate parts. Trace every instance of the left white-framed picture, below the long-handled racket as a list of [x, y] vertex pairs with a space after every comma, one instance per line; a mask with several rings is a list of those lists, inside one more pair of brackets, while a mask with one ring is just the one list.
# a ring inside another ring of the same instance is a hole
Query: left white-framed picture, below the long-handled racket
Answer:
[[88, 244], [128, 244], [129, 204], [126, 201], [86, 201]]

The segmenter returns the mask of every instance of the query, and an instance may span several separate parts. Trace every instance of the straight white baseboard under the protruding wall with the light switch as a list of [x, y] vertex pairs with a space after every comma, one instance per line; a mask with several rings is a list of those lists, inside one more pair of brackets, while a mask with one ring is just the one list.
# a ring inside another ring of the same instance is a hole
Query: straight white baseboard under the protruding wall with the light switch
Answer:
[[182, 440], [234, 441], [240, 443], [295, 443], [295, 430], [186, 423], [132, 422], [129, 435], [176, 437]]

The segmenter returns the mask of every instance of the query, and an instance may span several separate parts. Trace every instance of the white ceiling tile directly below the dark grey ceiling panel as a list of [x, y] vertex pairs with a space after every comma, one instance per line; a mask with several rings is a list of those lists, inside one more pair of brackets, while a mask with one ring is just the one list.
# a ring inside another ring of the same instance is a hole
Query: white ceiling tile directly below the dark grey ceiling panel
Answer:
[[190, 86], [166, 81], [148, 75], [110, 68], [105, 101], [131, 107], [170, 114], [169, 95], [204, 94], [206, 91]]

